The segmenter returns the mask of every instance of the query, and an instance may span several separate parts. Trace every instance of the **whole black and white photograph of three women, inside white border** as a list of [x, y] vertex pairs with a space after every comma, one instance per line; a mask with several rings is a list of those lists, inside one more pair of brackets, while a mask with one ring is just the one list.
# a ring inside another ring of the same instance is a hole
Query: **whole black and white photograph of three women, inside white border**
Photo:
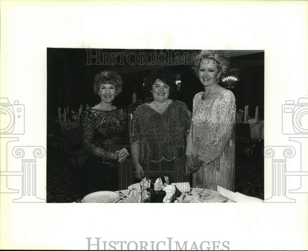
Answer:
[[47, 136], [47, 203], [262, 202], [264, 51], [47, 48]]

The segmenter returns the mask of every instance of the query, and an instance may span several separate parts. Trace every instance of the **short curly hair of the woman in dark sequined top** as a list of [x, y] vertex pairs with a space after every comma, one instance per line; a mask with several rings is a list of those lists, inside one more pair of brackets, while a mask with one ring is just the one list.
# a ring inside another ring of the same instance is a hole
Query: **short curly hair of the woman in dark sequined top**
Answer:
[[93, 89], [96, 95], [99, 95], [99, 88], [102, 84], [112, 84], [117, 94], [122, 92], [123, 81], [117, 72], [106, 70], [95, 75]]

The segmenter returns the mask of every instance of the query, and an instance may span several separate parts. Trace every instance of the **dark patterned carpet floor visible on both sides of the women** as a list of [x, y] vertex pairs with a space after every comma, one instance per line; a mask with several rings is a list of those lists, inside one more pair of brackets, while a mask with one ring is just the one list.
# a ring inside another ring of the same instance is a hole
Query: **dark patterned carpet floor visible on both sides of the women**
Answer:
[[[263, 141], [248, 158], [236, 151], [235, 191], [264, 199]], [[79, 170], [73, 169], [59, 147], [47, 149], [47, 203], [78, 200]]]

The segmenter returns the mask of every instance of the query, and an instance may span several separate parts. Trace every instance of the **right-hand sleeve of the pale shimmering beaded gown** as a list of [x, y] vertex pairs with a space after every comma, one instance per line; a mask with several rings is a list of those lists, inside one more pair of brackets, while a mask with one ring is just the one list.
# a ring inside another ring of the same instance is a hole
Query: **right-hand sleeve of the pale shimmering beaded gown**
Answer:
[[231, 91], [225, 91], [215, 109], [220, 117], [220, 121], [217, 121], [219, 122], [218, 130], [210, 142], [204, 142], [205, 150], [198, 154], [199, 159], [206, 164], [219, 158], [230, 143], [235, 129], [236, 109], [233, 93]]

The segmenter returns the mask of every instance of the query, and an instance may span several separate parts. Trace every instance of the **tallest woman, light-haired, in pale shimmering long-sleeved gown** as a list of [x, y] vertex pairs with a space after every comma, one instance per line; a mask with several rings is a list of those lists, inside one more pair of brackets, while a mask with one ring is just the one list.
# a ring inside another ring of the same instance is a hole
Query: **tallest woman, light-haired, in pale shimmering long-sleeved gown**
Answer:
[[193, 98], [193, 117], [186, 153], [193, 187], [217, 185], [234, 191], [235, 98], [218, 85], [229, 71], [219, 51], [201, 51], [193, 65], [205, 91]]

